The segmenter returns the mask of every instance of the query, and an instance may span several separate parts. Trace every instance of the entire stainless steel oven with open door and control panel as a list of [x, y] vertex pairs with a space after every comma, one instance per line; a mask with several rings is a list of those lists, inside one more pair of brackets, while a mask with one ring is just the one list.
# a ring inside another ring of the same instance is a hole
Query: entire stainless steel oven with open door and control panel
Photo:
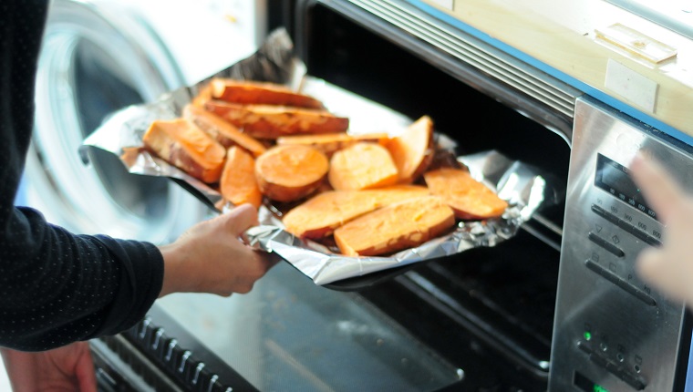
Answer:
[[429, 115], [460, 154], [533, 165], [555, 202], [509, 241], [358, 290], [280, 263], [249, 294], [171, 294], [94, 342], [104, 390], [683, 390], [690, 315], [634, 273], [662, 226], [627, 163], [652, 151], [693, 185], [688, 144], [440, 11], [448, 4], [276, 1], [268, 25], [289, 28], [311, 76]]

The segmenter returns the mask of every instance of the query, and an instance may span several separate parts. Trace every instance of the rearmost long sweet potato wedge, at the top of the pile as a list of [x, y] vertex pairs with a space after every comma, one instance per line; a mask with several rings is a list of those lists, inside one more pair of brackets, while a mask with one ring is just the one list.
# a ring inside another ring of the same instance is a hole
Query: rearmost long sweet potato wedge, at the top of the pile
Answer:
[[318, 99], [279, 84], [216, 77], [211, 85], [212, 97], [227, 102], [324, 108]]

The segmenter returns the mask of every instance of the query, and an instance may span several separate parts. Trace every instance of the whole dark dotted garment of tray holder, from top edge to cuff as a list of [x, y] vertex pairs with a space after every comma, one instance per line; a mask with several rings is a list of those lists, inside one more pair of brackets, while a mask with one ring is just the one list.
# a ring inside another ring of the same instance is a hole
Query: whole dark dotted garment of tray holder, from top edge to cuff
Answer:
[[160, 293], [149, 242], [76, 235], [14, 205], [47, 0], [0, 2], [0, 346], [40, 351], [136, 324]]

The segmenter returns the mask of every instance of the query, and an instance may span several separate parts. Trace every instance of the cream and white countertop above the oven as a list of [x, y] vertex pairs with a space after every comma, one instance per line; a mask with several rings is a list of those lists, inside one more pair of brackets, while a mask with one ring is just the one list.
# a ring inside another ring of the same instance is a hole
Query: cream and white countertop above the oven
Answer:
[[[603, 0], [424, 1], [492, 45], [596, 98], [612, 98], [616, 107], [633, 108], [624, 111], [678, 139], [693, 140], [693, 40]], [[596, 36], [595, 29], [615, 23], [675, 47], [677, 57], [654, 63]]]

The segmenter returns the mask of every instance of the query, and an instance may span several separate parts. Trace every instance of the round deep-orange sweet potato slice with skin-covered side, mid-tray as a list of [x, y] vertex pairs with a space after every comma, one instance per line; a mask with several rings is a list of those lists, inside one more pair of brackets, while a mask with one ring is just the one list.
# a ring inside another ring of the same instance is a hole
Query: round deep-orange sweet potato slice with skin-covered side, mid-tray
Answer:
[[308, 146], [274, 146], [255, 160], [260, 191], [274, 201], [296, 201], [315, 191], [325, 179], [329, 161]]

